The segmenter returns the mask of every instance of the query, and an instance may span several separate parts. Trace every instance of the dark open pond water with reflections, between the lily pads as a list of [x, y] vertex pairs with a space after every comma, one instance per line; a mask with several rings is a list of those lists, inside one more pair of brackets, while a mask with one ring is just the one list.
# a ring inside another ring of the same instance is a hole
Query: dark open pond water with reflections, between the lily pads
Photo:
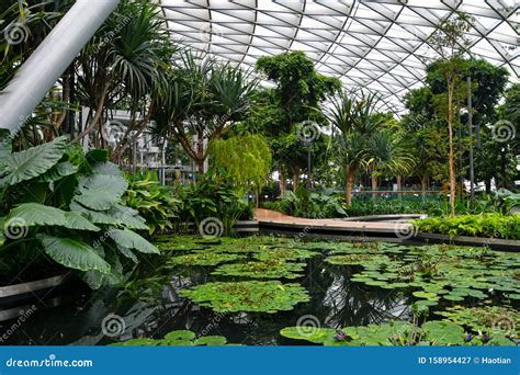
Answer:
[[[287, 343], [280, 330], [295, 326], [305, 315], [331, 328], [409, 318], [406, 298], [399, 292], [351, 283], [349, 276], [355, 270], [332, 266], [321, 255], [307, 262], [301, 280], [291, 281], [302, 283], [310, 295], [308, 303], [296, 305], [292, 311], [216, 314], [179, 296], [180, 289], [192, 285], [230, 280], [211, 275], [211, 271], [152, 264], [149, 270], [138, 270], [139, 279], [123, 288], [80, 291], [58, 306], [38, 310], [4, 344], [108, 344], [138, 337], [157, 339], [188, 329], [197, 337], [224, 336], [233, 343], [278, 345]], [[110, 314], [124, 320], [124, 331], [116, 338], [102, 331], [102, 321]]]

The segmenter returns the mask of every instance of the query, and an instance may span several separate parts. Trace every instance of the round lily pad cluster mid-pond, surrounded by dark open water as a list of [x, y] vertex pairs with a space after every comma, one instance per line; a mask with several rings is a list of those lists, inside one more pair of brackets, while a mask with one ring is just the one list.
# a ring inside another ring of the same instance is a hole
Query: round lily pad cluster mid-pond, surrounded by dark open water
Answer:
[[180, 294], [217, 312], [276, 312], [309, 300], [307, 291], [301, 285], [279, 281], [215, 282], [183, 289]]

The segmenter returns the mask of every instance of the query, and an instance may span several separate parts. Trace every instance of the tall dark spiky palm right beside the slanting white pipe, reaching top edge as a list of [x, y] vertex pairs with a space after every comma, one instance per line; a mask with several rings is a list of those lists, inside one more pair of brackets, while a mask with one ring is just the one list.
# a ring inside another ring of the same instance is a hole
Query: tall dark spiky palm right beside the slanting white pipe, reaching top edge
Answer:
[[166, 87], [165, 71], [173, 52], [158, 7], [123, 0], [77, 59], [78, 95], [91, 110], [89, 125], [76, 139], [97, 125], [101, 132], [103, 117], [121, 102], [129, 104], [134, 120], [137, 112], [145, 114], [129, 127], [142, 130], [154, 112], [148, 96]]

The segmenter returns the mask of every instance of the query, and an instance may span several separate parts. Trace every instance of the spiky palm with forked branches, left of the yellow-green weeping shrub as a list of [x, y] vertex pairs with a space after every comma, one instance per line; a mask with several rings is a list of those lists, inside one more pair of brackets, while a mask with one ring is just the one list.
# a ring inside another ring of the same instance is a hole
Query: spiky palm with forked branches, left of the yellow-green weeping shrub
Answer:
[[168, 76], [168, 90], [152, 98], [158, 105], [155, 130], [174, 138], [203, 173], [205, 145], [245, 118], [256, 87], [257, 80], [239, 67], [186, 52]]

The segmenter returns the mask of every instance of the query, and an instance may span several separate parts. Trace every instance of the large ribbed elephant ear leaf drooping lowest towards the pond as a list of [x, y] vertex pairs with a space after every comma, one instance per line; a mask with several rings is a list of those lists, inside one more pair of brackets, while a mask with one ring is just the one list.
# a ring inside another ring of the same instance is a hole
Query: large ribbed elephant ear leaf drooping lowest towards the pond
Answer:
[[37, 235], [45, 252], [59, 264], [80, 271], [110, 273], [110, 264], [89, 245], [71, 238]]

